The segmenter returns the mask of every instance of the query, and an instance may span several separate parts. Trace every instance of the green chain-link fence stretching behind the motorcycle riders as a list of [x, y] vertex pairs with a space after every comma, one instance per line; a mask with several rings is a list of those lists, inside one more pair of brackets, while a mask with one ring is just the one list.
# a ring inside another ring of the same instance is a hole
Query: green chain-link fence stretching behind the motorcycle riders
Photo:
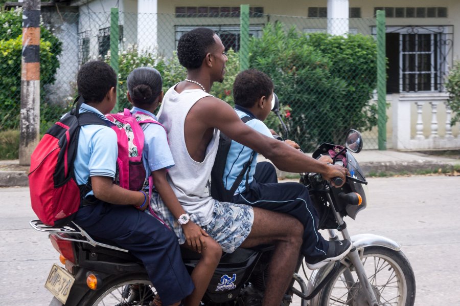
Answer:
[[[20, 105], [21, 12], [8, 14], [11, 21], [7, 27], [6, 19], [0, 20], [4, 24], [0, 32], [2, 130], [17, 128]], [[311, 150], [321, 142], [342, 143], [348, 128], [369, 130], [364, 134], [365, 148], [377, 147], [377, 106], [372, 99], [377, 79], [377, 47], [372, 36], [375, 19], [334, 19], [328, 23], [327, 18], [268, 15], [251, 7], [247, 44], [240, 41], [239, 8], [197, 7], [195, 11], [176, 8], [175, 14], [120, 12], [118, 23], [111, 24], [111, 20], [109, 8], [105, 12], [80, 8], [78, 13], [42, 9], [44, 123], [58, 119], [63, 112], [50, 105], [67, 106], [72, 102], [80, 65], [92, 59], [110, 62], [110, 50], [118, 49], [118, 107], [127, 106], [125, 81], [136, 67], [156, 67], [167, 90], [186, 76], [174, 51], [178, 39], [183, 33], [203, 26], [216, 31], [228, 51], [225, 80], [214, 84], [215, 96], [232, 102], [240, 53], [249, 54], [249, 67], [272, 78], [274, 91], [283, 105], [289, 138], [300, 143], [304, 150]], [[328, 27], [329, 31], [343, 35], [326, 34]], [[115, 40], [118, 46], [110, 46], [110, 36], [115, 30], [119, 33], [119, 39]], [[240, 52], [241, 46], [247, 46], [248, 50]], [[14, 51], [8, 52], [8, 48]], [[283, 132], [276, 118], [270, 117], [267, 123]]]

